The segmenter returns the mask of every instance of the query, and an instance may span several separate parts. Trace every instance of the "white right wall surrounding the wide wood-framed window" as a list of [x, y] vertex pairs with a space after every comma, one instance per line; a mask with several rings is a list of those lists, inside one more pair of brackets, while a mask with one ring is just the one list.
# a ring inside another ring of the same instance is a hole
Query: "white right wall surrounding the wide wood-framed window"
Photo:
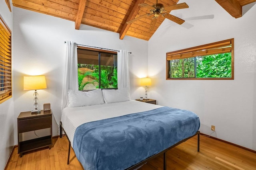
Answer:
[[[148, 43], [150, 95], [160, 105], [197, 113], [202, 133], [210, 135], [215, 125], [212, 136], [256, 150], [256, 5], [246, 6], [250, 10], [235, 19], [214, 0], [186, 3], [189, 8], [171, 12], [186, 22], [165, 20]], [[231, 38], [234, 80], [166, 80], [166, 52]]]

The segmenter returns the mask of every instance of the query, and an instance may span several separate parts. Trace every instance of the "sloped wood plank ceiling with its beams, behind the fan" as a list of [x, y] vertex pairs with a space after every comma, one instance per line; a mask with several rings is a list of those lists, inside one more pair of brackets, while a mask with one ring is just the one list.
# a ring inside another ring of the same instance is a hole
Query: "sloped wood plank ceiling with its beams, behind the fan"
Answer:
[[[158, 0], [166, 6], [172, 6], [179, 0]], [[242, 6], [256, 0], [215, 0], [234, 18], [242, 16]], [[12, 0], [13, 6], [40, 12], [65, 20], [75, 22], [75, 29], [80, 24], [98, 27], [120, 34], [120, 39], [125, 35], [148, 41], [156, 29], [164, 21], [161, 16], [156, 21], [153, 31], [149, 31], [152, 16], [142, 18], [131, 24], [126, 24], [134, 18], [149, 13], [149, 10], [138, 4], [153, 5], [156, 0]]]

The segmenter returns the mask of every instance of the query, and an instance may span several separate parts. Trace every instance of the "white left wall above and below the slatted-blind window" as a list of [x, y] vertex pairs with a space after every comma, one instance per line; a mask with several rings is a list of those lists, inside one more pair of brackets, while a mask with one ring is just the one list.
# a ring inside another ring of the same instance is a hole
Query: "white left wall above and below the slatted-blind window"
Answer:
[[[12, 30], [12, 13], [4, 0], [0, 1], [0, 15]], [[13, 41], [13, 36], [12, 36]], [[13, 94], [14, 96], [14, 94]], [[13, 97], [0, 104], [0, 169], [3, 170], [14, 146]]]

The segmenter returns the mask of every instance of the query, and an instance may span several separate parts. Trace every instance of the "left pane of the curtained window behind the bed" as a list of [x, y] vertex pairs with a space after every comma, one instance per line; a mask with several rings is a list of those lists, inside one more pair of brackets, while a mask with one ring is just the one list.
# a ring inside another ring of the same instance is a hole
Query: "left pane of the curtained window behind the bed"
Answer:
[[94, 90], [99, 87], [98, 52], [77, 50], [79, 90]]

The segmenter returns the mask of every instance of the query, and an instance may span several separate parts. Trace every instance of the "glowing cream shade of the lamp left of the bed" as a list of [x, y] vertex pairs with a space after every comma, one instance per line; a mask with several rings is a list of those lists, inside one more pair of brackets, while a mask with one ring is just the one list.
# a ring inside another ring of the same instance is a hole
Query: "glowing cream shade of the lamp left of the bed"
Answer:
[[24, 76], [23, 90], [39, 90], [45, 88], [47, 88], [45, 76]]

